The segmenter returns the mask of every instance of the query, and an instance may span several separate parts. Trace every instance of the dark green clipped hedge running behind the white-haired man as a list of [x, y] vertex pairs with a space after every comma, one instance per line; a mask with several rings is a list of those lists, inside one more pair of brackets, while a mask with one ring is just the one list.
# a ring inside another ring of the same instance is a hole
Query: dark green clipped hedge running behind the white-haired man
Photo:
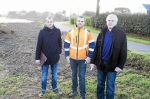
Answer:
[[[99, 16], [93, 16], [91, 25], [94, 28], [101, 29], [106, 24], [106, 17], [110, 13], [102, 13]], [[118, 17], [118, 27], [127, 33], [150, 36], [150, 15], [115, 13]]]

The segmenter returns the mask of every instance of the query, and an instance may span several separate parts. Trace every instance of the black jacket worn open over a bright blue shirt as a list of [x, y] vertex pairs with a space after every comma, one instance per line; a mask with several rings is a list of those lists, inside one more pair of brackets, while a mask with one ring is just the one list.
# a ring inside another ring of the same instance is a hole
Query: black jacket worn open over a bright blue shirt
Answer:
[[110, 60], [106, 67], [101, 65], [101, 55], [106, 31], [107, 26], [102, 29], [102, 32], [97, 37], [96, 47], [91, 58], [91, 64], [95, 64], [97, 69], [106, 72], [114, 71], [116, 67], [123, 69], [127, 58], [127, 39], [125, 32], [116, 26], [111, 31], [113, 33], [113, 41], [110, 49]]

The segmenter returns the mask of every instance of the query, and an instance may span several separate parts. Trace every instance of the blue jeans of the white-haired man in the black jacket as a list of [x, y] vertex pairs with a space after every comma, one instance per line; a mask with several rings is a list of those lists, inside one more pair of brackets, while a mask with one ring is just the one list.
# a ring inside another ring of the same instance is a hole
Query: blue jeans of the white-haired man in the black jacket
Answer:
[[97, 99], [105, 99], [104, 89], [106, 81], [106, 99], [114, 99], [116, 72], [98, 70]]

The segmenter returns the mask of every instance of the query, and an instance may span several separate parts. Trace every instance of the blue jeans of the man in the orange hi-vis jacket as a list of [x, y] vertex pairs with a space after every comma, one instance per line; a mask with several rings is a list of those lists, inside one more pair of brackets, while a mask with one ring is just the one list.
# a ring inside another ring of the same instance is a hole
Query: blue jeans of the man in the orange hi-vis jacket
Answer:
[[72, 92], [77, 92], [77, 87], [78, 87], [77, 73], [79, 73], [78, 75], [79, 75], [80, 97], [85, 98], [85, 95], [86, 95], [85, 60], [75, 60], [75, 59], [70, 58], [70, 65], [71, 65], [71, 70], [72, 70]]

